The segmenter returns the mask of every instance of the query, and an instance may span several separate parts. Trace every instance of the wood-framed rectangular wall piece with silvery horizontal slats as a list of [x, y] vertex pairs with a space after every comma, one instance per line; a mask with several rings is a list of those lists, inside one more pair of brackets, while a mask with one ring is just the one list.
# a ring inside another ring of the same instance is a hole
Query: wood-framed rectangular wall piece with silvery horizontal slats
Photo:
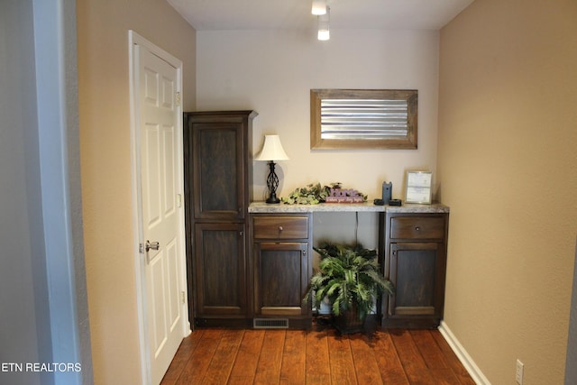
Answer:
[[415, 89], [311, 89], [310, 148], [417, 149]]

